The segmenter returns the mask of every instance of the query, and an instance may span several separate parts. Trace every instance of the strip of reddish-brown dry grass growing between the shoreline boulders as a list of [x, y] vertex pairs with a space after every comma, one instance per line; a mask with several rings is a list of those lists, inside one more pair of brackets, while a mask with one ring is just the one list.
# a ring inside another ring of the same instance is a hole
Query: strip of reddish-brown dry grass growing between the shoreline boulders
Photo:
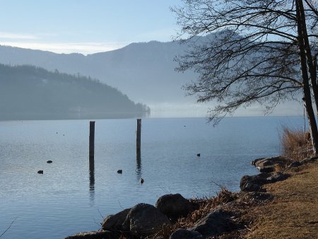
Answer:
[[221, 187], [220, 192], [216, 197], [206, 199], [192, 199], [195, 204], [199, 205], [199, 209], [196, 209], [189, 214], [186, 218], [179, 218], [178, 221], [171, 225], [164, 225], [163, 228], [158, 231], [155, 235], [149, 237], [153, 239], [165, 239], [169, 238], [170, 235], [179, 228], [191, 228], [196, 222], [208, 215], [213, 209], [220, 204], [226, 204], [237, 199], [237, 194], [230, 192], [226, 187]]

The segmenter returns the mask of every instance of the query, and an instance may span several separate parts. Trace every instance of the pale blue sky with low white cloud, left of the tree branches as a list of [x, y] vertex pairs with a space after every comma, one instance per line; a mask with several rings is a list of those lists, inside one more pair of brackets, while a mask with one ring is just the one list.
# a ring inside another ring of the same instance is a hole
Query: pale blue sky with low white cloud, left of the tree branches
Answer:
[[105, 52], [167, 42], [181, 0], [0, 0], [0, 45], [58, 53]]

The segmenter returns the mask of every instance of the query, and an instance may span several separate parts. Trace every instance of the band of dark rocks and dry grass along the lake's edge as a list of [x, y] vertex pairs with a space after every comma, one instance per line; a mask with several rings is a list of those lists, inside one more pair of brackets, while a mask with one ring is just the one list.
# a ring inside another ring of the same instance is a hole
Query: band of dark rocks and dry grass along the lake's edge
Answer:
[[[286, 173], [288, 169], [317, 161], [317, 158], [306, 158], [300, 162], [291, 162], [282, 156], [259, 158], [252, 164], [260, 173], [243, 176], [240, 192], [222, 189], [216, 197], [201, 200], [166, 194], [157, 200], [155, 206], [141, 203], [106, 216], [99, 231], [78, 233], [64, 239], [202, 239], [220, 235], [236, 238], [249, 230], [250, 222], [244, 217], [249, 206], [271, 200], [271, 194], [264, 190], [263, 185], [285, 180], [290, 177]], [[189, 223], [187, 217], [198, 218], [194, 219], [195, 223]]]

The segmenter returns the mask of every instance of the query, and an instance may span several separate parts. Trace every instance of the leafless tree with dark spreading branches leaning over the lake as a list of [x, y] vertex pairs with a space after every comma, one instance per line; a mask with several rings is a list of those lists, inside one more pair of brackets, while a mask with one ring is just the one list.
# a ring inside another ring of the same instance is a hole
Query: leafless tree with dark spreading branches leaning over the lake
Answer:
[[199, 74], [184, 88], [198, 102], [216, 103], [208, 112], [210, 121], [216, 124], [253, 103], [271, 112], [278, 103], [299, 98], [302, 90], [317, 153], [317, 1], [183, 0], [172, 11], [181, 27], [176, 39], [192, 42], [177, 57], [178, 70]]

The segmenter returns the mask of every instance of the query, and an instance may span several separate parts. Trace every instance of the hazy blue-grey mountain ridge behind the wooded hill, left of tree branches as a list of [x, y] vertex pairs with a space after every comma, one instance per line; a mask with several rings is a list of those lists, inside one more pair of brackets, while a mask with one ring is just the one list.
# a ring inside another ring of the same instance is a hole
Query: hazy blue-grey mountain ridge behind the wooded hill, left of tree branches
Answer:
[[174, 58], [187, 50], [179, 42], [131, 43], [121, 49], [96, 54], [56, 54], [33, 49], [0, 46], [0, 63], [40, 66], [67, 74], [98, 78], [118, 88], [136, 102], [184, 103], [182, 86], [196, 78], [194, 72], [175, 71]]

